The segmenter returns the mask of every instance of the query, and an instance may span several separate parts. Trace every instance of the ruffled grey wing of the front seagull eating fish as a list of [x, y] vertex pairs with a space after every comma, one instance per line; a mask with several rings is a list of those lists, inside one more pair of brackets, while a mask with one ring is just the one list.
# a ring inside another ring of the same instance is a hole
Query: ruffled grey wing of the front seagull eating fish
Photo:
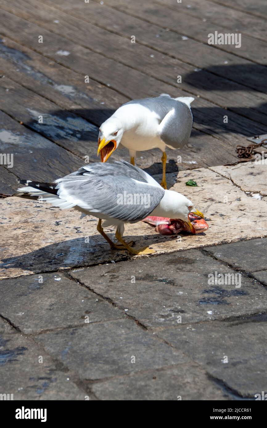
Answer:
[[87, 172], [58, 180], [57, 189], [61, 199], [73, 200], [90, 213], [124, 222], [143, 220], [159, 205], [164, 195], [162, 187], [126, 176], [90, 177]]

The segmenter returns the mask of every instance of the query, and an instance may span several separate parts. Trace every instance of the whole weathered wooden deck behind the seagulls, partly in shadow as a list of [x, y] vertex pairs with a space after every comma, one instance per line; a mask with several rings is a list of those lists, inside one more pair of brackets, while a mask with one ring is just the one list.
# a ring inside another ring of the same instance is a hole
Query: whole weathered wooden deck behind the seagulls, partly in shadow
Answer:
[[[179, 169], [233, 163], [237, 144], [267, 133], [263, 0], [2, 0], [0, 10], [0, 152], [14, 155], [13, 168], [0, 165], [3, 195], [17, 177], [53, 180], [97, 160], [99, 125], [132, 98], [195, 97], [189, 144], [168, 150], [167, 171], [177, 155]], [[208, 45], [215, 31], [241, 33], [241, 47]], [[160, 157], [137, 164], [159, 173]]]

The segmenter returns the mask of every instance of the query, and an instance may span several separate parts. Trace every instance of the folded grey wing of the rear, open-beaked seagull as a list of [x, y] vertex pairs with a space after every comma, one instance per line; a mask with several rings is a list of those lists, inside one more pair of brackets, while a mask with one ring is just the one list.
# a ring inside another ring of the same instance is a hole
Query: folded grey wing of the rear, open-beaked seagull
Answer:
[[158, 135], [166, 146], [180, 149], [188, 142], [192, 125], [191, 110], [186, 104], [176, 101], [175, 106], [159, 124]]

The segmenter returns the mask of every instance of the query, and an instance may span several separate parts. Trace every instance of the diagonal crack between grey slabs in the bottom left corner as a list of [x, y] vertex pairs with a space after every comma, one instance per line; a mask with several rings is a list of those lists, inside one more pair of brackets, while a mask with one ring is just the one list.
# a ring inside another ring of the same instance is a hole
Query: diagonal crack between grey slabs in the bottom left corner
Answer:
[[[34, 345], [37, 346], [37, 348], [39, 348], [42, 353], [44, 355], [47, 355], [51, 362], [54, 364], [55, 366], [55, 370], [54, 371], [59, 371], [59, 372], [65, 372], [68, 373], [68, 376], [70, 377], [70, 380], [72, 383], [74, 383], [78, 389], [80, 389], [82, 392], [85, 392], [85, 395], [91, 395], [91, 397], [95, 398], [96, 400], [99, 400], [99, 398], [97, 398], [95, 396], [95, 394], [90, 390], [90, 388], [84, 388], [84, 384], [82, 382], [82, 380], [78, 377], [78, 374], [75, 371], [72, 371], [69, 369], [68, 366], [65, 366], [62, 361], [58, 360], [56, 357], [54, 357], [53, 354], [50, 354], [45, 347], [42, 345], [42, 343], [36, 342], [35, 337], [25, 334], [22, 330], [20, 330], [19, 327], [17, 327], [15, 324], [13, 324], [8, 318], [4, 317], [3, 315], [0, 315], [0, 318], [2, 318], [4, 321], [6, 321], [12, 328], [14, 328], [17, 333], [19, 333], [21, 336], [23, 336], [25, 339], [29, 340], [30, 342], [33, 342]], [[10, 333], [6, 333], [7, 335]], [[71, 379], [72, 377], [72, 379]]]

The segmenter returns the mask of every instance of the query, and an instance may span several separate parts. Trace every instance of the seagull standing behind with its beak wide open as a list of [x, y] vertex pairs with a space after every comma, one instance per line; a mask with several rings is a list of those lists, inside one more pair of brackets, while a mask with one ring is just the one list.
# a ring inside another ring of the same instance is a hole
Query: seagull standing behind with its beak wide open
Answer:
[[162, 151], [162, 182], [166, 183], [166, 146], [180, 149], [189, 140], [193, 116], [190, 104], [195, 98], [156, 98], [129, 101], [119, 107], [99, 128], [98, 151], [106, 162], [119, 145], [129, 150], [132, 165], [136, 152], [158, 148]]

